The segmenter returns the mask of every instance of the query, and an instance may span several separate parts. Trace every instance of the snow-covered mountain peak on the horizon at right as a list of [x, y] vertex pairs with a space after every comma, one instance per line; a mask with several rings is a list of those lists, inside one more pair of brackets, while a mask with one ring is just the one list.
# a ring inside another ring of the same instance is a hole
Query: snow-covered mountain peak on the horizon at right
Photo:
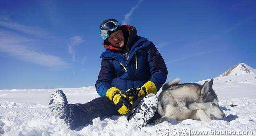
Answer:
[[232, 66], [230, 69], [222, 73], [220, 76], [235, 76], [235, 75], [247, 75], [256, 74], [256, 70], [244, 63], [238, 63]]

